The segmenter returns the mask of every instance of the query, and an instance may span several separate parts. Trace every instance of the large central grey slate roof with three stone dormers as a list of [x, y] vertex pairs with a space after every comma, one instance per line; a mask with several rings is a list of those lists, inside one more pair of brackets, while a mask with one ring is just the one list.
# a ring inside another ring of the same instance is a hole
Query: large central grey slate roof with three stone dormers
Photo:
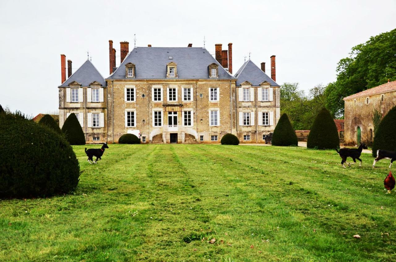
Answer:
[[107, 79], [126, 79], [127, 63], [135, 64], [134, 79], [166, 79], [170, 62], [177, 64], [177, 79], [209, 79], [211, 63], [219, 65], [218, 79], [235, 79], [202, 47], [135, 47]]

